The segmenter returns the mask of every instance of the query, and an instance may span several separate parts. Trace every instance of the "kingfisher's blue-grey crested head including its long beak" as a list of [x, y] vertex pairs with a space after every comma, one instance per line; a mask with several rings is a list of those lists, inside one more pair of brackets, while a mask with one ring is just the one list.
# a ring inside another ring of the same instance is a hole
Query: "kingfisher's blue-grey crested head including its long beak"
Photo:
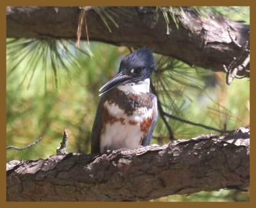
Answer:
[[156, 68], [153, 52], [147, 48], [140, 48], [125, 56], [119, 67], [118, 74], [109, 80], [99, 91], [100, 95], [120, 85], [136, 85], [150, 78]]

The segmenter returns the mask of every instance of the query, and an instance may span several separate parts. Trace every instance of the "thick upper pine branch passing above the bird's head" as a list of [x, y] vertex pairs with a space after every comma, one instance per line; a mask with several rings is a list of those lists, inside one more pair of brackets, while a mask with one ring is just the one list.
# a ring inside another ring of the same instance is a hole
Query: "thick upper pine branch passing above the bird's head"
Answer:
[[[92, 7], [86, 7], [86, 24], [90, 40], [114, 45], [146, 46], [166, 56], [176, 57], [188, 64], [214, 71], [224, 71], [233, 57], [239, 56], [237, 48], [228, 36], [232, 35], [240, 45], [249, 41], [250, 27], [216, 15], [202, 19], [184, 8], [188, 19], [178, 15], [179, 29], [170, 18], [170, 34], [166, 34], [163, 15], [156, 20], [156, 8], [127, 7], [129, 15], [119, 8], [108, 8], [118, 28], [108, 18], [111, 33]], [[81, 9], [78, 7], [13, 7], [6, 9], [7, 37], [13, 38], [67, 38], [76, 39]], [[193, 29], [193, 32], [191, 29]], [[86, 39], [85, 29], [81, 38]], [[244, 55], [245, 59], [246, 55]], [[243, 59], [243, 60], [244, 60]]]

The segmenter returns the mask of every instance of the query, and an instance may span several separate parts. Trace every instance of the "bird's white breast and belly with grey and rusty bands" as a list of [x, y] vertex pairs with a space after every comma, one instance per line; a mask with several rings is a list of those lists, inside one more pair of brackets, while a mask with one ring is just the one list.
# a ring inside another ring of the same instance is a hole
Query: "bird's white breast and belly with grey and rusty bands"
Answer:
[[112, 99], [103, 103], [100, 152], [141, 145], [156, 113], [147, 96], [131, 93], [122, 100]]

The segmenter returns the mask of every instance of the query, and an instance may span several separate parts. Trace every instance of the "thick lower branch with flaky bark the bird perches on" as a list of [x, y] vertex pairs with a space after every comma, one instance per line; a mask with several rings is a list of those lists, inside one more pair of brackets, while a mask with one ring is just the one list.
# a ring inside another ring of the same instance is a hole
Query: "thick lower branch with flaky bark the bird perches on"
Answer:
[[103, 155], [7, 164], [8, 201], [150, 200], [249, 184], [250, 128]]

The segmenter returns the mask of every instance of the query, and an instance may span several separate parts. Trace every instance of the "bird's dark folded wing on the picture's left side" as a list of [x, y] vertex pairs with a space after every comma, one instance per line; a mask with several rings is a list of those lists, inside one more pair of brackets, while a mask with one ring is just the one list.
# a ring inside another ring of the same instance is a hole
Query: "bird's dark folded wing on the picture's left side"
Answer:
[[104, 103], [103, 97], [97, 108], [97, 113], [92, 127], [91, 137], [91, 153], [100, 153], [100, 131], [102, 129], [102, 105]]

